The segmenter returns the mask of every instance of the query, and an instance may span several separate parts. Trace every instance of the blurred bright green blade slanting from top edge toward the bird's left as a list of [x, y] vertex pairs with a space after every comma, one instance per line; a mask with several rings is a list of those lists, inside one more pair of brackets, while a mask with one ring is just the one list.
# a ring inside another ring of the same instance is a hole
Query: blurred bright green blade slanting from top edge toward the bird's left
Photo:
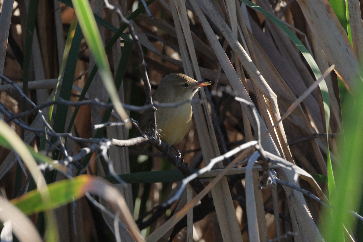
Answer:
[[82, 28], [83, 36], [95, 58], [103, 84], [110, 95], [114, 108], [122, 120], [126, 122], [126, 128], [130, 129], [131, 122], [118, 97], [111, 75], [110, 65], [106, 57], [106, 51], [103, 47], [101, 35], [99, 34], [89, 2], [87, 0], [72, 0], [72, 3], [74, 11], [77, 14], [79, 25]]

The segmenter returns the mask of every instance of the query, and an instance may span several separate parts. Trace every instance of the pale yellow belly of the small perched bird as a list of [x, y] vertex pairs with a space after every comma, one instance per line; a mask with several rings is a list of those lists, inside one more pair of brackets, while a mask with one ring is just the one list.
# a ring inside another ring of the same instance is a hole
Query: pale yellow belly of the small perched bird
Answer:
[[156, 110], [156, 124], [160, 139], [169, 145], [175, 145], [184, 138], [190, 129], [191, 120], [192, 107], [190, 104]]

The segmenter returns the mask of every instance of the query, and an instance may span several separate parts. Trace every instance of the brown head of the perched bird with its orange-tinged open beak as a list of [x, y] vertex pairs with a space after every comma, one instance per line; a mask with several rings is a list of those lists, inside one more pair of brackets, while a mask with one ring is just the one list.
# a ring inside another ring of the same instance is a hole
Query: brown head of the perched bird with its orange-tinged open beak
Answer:
[[163, 92], [168, 101], [184, 101], [191, 99], [200, 87], [211, 85], [212, 82], [197, 82], [181, 73], [172, 73], [160, 80], [158, 92]]

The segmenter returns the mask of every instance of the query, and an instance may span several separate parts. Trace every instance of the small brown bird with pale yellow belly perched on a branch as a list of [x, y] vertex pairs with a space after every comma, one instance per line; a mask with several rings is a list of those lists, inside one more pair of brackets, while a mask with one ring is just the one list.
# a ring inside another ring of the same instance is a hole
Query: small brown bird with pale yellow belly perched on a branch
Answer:
[[[158, 89], [152, 94], [152, 100], [159, 103], [179, 103], [191, 99], [200, 87], [211, 82], [197, 82], [181, 73], [172, 73], [160, 80]], [[178, 107], [156, 110], [156, 129], [162, 141], [170, 146], [179, 143], [188, 133], [192, 122], [192, 105], [185, 103]], [[139, 126], [143, 132], [149, 128], [150, 112], [145, 111], [140, 117]]]

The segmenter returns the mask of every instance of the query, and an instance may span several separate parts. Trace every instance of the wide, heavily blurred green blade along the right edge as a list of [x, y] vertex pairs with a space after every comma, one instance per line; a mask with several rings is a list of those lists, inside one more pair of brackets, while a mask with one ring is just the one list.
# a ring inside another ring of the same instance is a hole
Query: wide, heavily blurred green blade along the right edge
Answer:
[[[362, 93], [363, 88], [360, 81]], [[346, 122], [343, 123], [344, 141], [340, 139], [339, 154], [342, 166], [335, 171], [337, 193], [331, 194], [331, 201], [334, 201], [335, 209], [325, 211], [321, 223], [325, 241], [343, 241], [342, 224], [350, 225], [354, 218], [347, 210], [357, 211], [362, 198], [363, 184], [363, 96], [347, 97], [342, 104], [342, 116]]]

